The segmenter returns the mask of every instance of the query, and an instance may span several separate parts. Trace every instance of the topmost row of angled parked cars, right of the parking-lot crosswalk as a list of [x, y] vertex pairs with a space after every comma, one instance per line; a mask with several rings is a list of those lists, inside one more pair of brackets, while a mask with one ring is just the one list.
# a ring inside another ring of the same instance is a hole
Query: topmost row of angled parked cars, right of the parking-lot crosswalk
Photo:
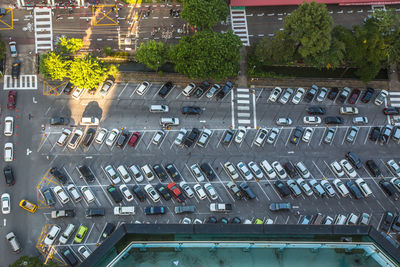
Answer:
[[[372, 97], [375, 94], [375, 90], [373, 88], [367, 88], [362, 97], [361, 102], [369, 103]], [[302, 100], [306, 103], [311, 103], [313, 100], [316, 102], [323, 102], [326, 98], [337, 103], [347, 103], [355, 104], [358, 98], [361, 96], [360, 89], [351, 90], [348, 87], [344, 87], [342, 90], [339, 90], [337, 87], [332, 87], [331, 89], [327, 89], [326, 87], [318, 88], [316, 85], [312, 85], [309, 90], [304, 88], [298, 88], [296, 91], [292, 88], [286, 88], [283, 90], [280, 87], [275, 87], [268, 98], [270, 102], [279, 102], [281, 104], [286, 104], [291, 102], [295, 105], [299, 104]], [[381, 90], [374, 99], [375, 105], [382, 105], [388, 96], [388, 92], [386, 90]]]

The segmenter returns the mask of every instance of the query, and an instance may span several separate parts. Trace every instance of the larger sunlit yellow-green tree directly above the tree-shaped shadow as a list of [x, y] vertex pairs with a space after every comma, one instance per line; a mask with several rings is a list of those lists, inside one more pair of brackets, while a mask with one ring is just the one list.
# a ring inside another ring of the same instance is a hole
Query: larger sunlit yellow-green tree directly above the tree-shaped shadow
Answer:
[[114, 65], [104, 62], [88, 54], [76, 57], [70, 64], [69, 78], [72, 84], [80, 88], [97, 88], [108, 76], [116, 73]]

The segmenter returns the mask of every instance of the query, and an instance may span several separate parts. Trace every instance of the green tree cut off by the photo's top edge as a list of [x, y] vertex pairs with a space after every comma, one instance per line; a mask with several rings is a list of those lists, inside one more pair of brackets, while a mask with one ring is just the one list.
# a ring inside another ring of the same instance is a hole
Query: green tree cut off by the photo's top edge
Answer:
[[197, 28], [211, 29], [225, 20], [229, 9], [225, 0], [184, 0], [181, 17]]

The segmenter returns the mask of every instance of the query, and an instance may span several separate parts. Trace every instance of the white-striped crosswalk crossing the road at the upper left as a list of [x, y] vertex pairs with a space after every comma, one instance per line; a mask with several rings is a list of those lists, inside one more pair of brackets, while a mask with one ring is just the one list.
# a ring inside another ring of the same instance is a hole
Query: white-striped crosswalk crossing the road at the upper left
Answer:
[[53, 51], [51, 8], [34, 8], [35, 51]]

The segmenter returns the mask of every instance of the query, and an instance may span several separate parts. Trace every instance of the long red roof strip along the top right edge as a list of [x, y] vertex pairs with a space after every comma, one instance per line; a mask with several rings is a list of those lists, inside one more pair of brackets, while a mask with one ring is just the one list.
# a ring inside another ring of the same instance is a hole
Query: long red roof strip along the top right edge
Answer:
[[[311, 2], [306, 0], [306, 2]], [[400, 4], [400, 0], [315, 0], [317, 3], [339, 5], [393, 5]], [[296, 6], [303, 0], [231, 0], [231, 6]]]

